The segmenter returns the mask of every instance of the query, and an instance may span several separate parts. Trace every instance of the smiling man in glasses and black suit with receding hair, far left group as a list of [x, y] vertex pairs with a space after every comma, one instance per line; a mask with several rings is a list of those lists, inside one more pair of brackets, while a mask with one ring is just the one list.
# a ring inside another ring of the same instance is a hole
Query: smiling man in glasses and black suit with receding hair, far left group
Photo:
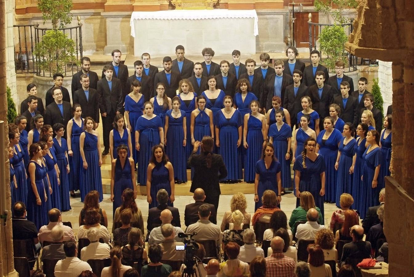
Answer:
[[[62, 90], [59, 87], [53, 88], [52, 93], [55, 101], [46, 106], [44, 122], [51, 126], [55, 123], [62, 123], [63, 126], [66, 126], [72, 118], [72, 106], [70, 102], [63, 101]], [[66, 130], [63, 138], [66, 139]]]

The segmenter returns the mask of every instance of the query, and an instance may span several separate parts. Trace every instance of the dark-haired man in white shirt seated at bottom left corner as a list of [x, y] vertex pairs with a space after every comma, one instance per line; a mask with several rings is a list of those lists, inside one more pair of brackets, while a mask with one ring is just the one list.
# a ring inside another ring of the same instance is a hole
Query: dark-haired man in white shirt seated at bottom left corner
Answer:
[[77, 247], [75, 241], [65, 241], [63, 250], [66, 258], [59, 260], [55, 266], [55, 277], [78, 277], [84, 270], [90, 270], [91, 266], [77, 258]]

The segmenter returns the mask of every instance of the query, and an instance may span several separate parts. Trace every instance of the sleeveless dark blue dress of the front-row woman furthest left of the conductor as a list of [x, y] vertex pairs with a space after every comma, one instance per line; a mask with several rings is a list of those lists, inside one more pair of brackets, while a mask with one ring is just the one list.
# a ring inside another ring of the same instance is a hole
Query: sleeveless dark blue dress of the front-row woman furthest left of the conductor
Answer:
[[[135, 172], [134, 172], [135, 173]], [[125, 159], [124, 167], [121, 166], [121, 161], [116, 159], [115, 162], [115, 179], [113, 184], [113, 214], [116, 208], [122, 204], [122, 193], [126, 188], [134, 190], [134, 185], [131, 179], [132, 169], [129, 159]]]

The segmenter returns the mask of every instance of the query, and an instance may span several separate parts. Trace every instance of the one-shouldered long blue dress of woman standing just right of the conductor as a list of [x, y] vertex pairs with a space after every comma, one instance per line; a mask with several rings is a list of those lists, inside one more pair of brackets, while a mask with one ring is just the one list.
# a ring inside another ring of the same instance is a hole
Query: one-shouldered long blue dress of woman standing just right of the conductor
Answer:
[[[256, 163], [262, 155], [262, 122], [250, 114], [247, 120], [247, 130], [246, 141], [248, 148], [246, 149], [246, 160], [244, 162], [244, 181], [251, 183], [255, 181]], [[240, 147], [244, 148], [243, 145]]]

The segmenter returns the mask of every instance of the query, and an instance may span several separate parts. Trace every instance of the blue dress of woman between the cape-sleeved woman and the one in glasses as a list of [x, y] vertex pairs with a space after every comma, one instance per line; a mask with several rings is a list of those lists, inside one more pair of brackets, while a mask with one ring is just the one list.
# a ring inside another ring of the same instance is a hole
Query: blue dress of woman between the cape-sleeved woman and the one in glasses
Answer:
[[171, 164], [173, 165], [174, 179], [187, 182], [187, 155], [185, 147], [183, 146], [183, 119], [185, 118], [186, 113], [185, 111], [180, 110], [181, 116], [179, 118], [174, 118], [171, 115], [172, 111], [173, 110], [169, 110], [166, 113], [166, 116], [168, 116], [166, 153]]

